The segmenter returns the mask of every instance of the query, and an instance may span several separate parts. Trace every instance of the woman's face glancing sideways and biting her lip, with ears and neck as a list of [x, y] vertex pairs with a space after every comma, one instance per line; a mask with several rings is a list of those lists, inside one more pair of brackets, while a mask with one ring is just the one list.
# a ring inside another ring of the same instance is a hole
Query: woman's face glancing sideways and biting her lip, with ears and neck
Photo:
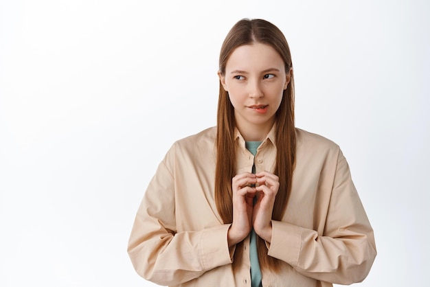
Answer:
[[280, 54], [269, 45], [242, 45], [231, 53], [225, 75], [218, 76], [229, 93], [236, 126], [245, 139], [247, 133], [263, 139], [269, 133], [290, 75]]

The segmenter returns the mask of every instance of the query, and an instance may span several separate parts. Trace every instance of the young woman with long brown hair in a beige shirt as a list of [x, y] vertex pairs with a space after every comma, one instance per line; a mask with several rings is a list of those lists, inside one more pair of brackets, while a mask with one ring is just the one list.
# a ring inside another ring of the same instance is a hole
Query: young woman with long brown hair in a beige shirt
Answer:
[[339, 146], [294, 126], [291, 54], [278, 27], [241, 20], [220, 51], [217, 126], [174, 143], [128, 242], [169, 286], [361, 282], [374, 235]]

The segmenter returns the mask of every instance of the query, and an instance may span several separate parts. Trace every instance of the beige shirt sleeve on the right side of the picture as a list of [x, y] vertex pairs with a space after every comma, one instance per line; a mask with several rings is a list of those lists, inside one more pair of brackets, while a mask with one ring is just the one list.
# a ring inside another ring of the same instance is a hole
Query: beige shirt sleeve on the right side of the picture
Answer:
[[313, 279], [334, 284], [363, 281], [376, 257], [374, 234], [340, 151], [326, 216], [321, 235], [273, 220], [268, 254]]

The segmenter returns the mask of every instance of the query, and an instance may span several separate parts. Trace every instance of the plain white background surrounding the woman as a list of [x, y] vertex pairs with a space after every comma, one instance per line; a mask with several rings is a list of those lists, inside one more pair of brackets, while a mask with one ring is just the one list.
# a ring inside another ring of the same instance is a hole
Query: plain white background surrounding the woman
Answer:
[[0, 0], [0, 286], [153, 286], [126, 253], [177, 139], [214, 126], [244, 17], [291, 46], [296, 124], [337, 142], [375, 230], [357, 286], [427, 286], [428, 1]]

